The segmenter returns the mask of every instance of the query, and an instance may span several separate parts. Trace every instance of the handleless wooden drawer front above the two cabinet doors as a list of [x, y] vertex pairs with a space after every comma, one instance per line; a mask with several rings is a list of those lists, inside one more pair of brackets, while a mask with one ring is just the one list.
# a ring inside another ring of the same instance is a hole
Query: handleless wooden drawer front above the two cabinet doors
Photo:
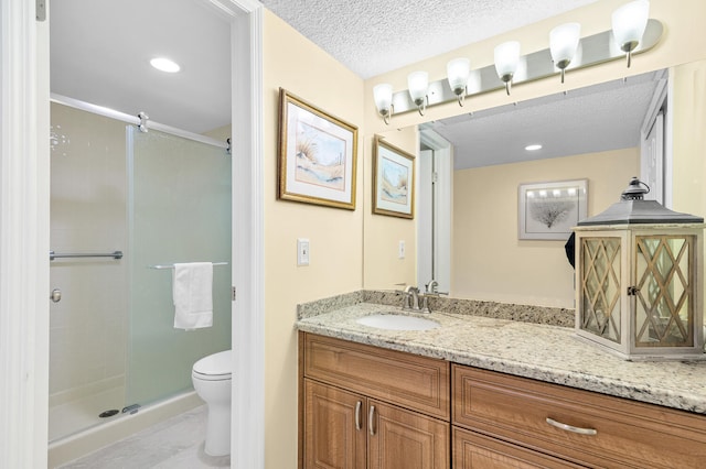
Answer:
[[304, 334], [303, 373], [449, 419], [449, 362]]

